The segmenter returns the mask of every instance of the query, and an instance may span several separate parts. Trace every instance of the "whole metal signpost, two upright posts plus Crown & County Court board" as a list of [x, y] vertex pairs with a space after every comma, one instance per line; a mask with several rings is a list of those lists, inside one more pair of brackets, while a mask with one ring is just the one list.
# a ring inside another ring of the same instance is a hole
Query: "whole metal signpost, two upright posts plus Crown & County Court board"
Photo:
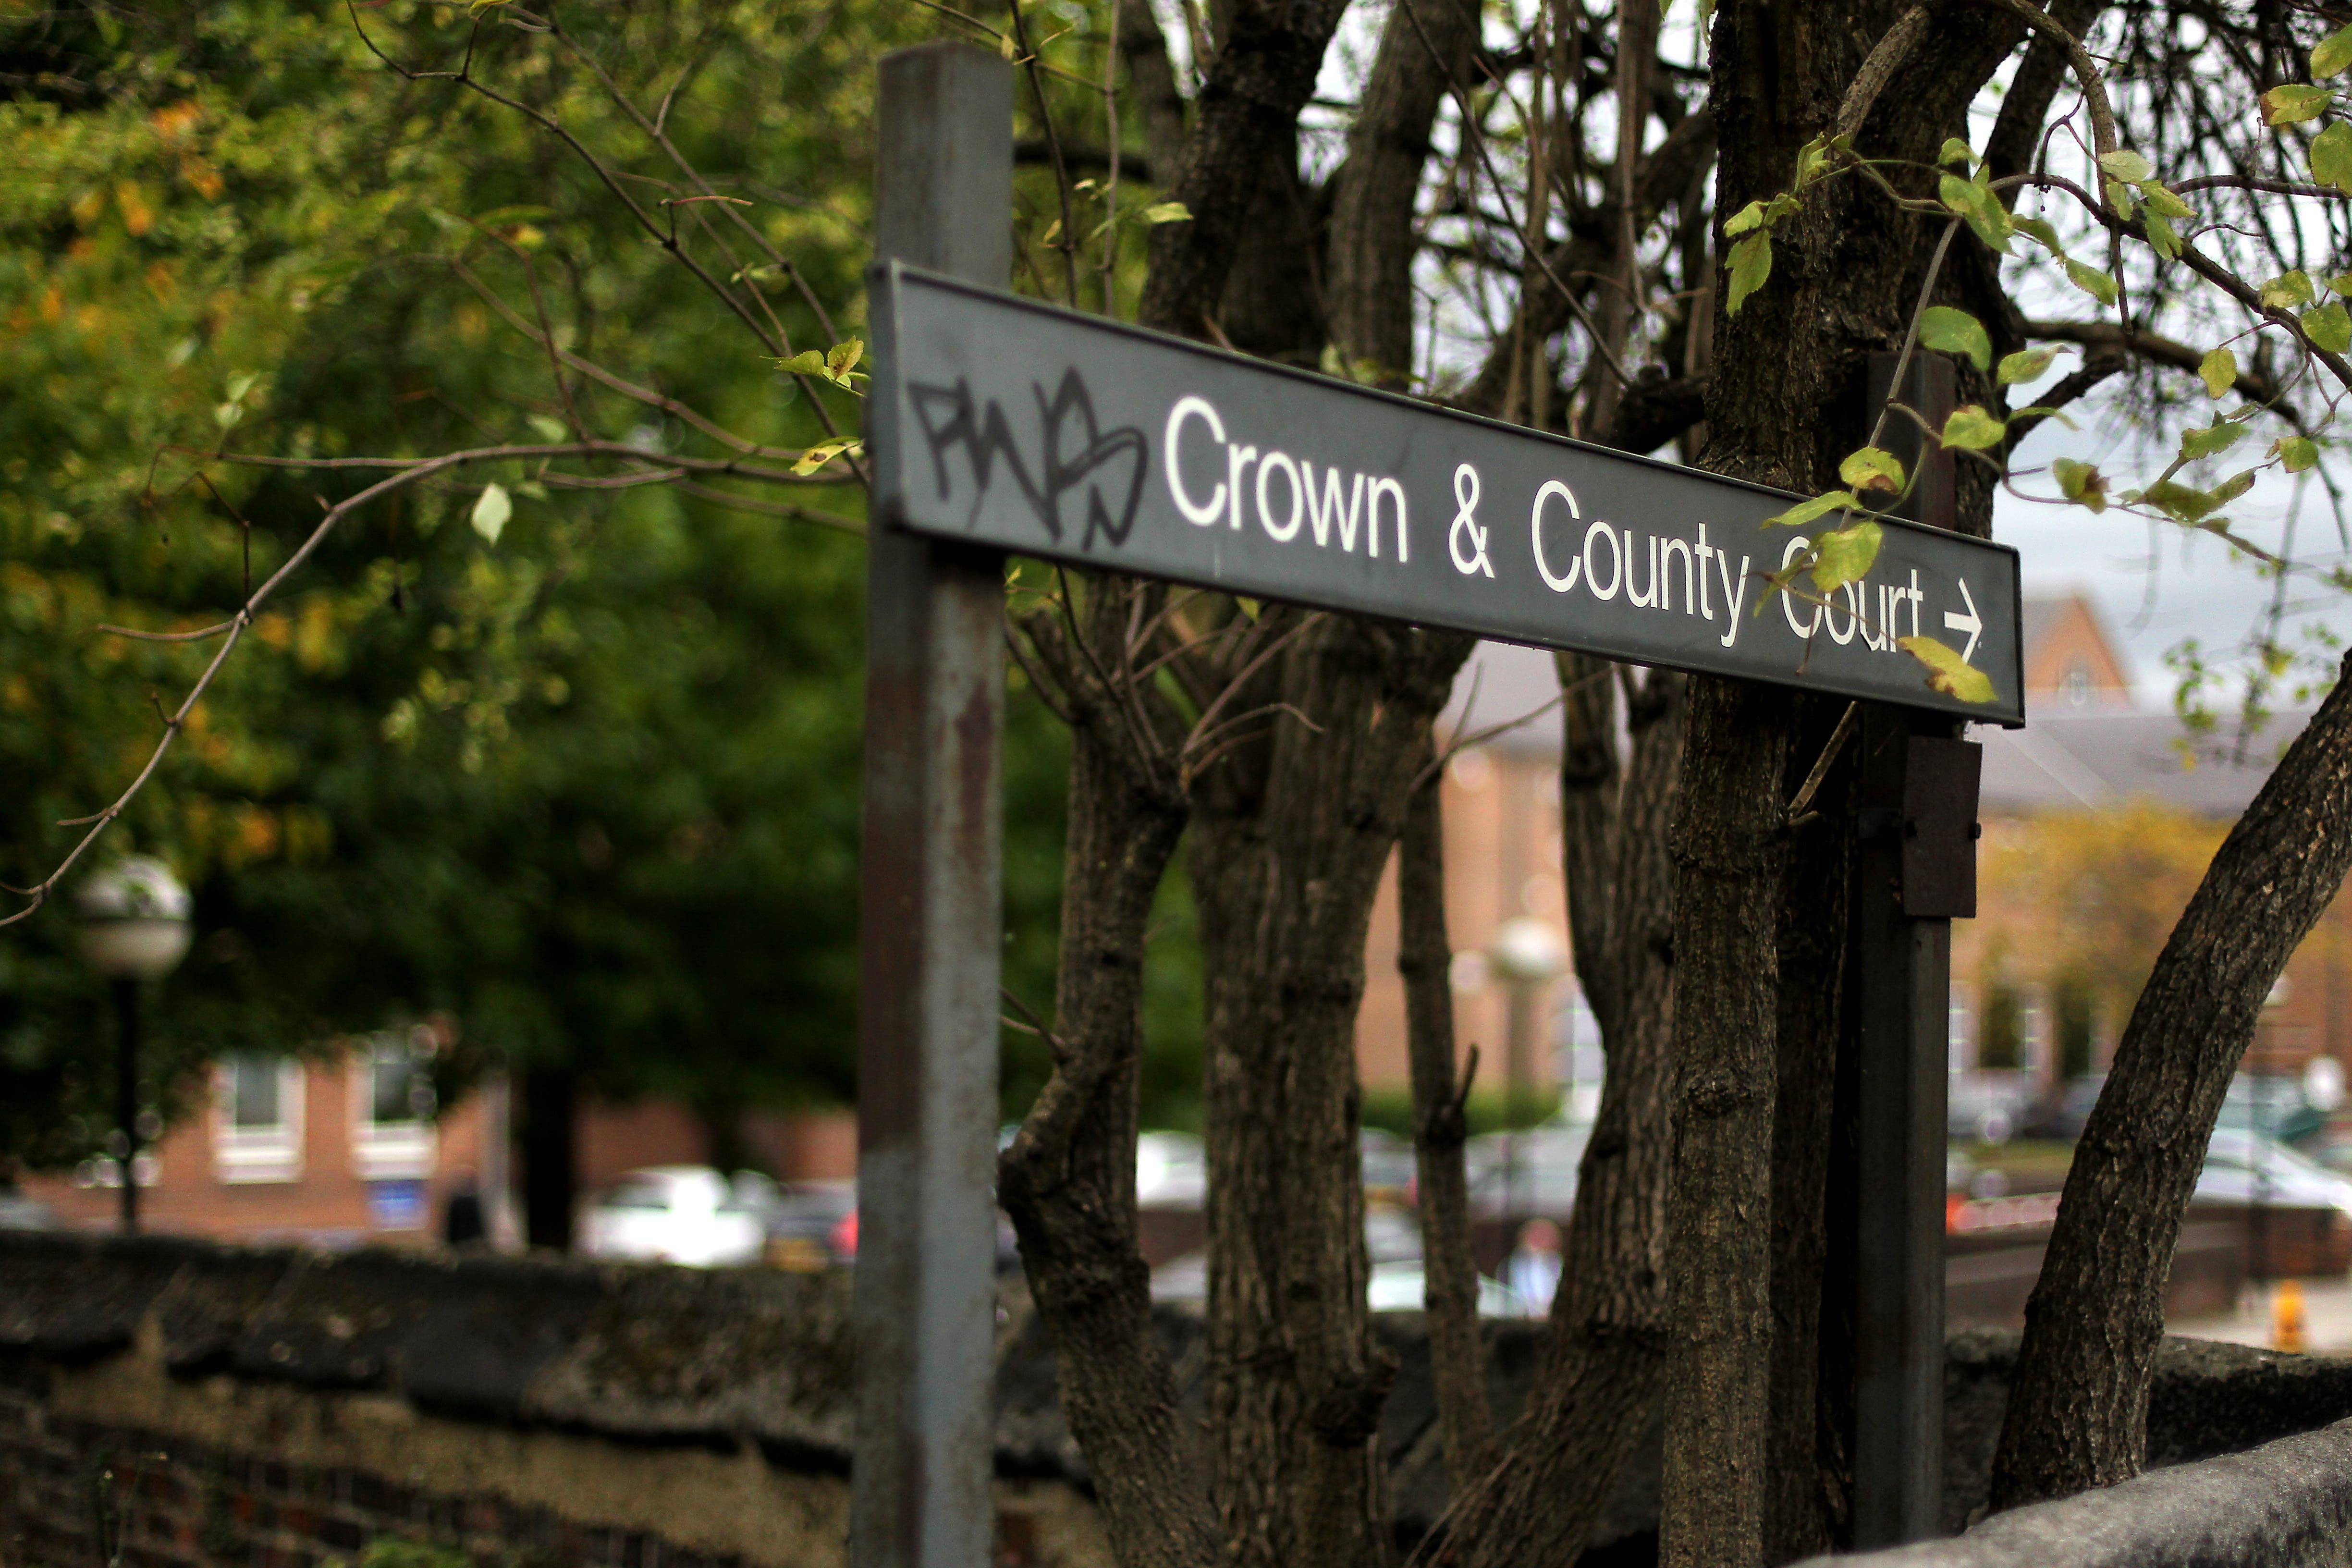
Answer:
[[[1863, 1286], [1856, 1439], [1858, 1455], [1926, 1448], [1858, 1467], [1856, 1533], [1933, 1533], [1943, 1279], [1924, 1227], [1940, 1215], [1950, 917], [1973, 912], [1973, 748], [1952, 733], [2023, 722], [2016, 550], [1896, 522], [1828, 604], [1764, 602], [1811, 543], [1766, 527], [1795, 496], [988, 287], [1011, 270], [1011, 73], [995, 54], [887, 56], [880, 141], [856, 1566], [988, 1556], [1007, 552], [1867, 703], [1858, 1232], [1865, 1258], [1884, 1241], [1900, 1267]], [[1950, 367], [1922, 364], [1947, 386]], [[1994, 701], [1931, 689], [1898, 646], [1915, 635], [1983, 670]], [[1938, 788], [1955, 769], [1966, 790]]]

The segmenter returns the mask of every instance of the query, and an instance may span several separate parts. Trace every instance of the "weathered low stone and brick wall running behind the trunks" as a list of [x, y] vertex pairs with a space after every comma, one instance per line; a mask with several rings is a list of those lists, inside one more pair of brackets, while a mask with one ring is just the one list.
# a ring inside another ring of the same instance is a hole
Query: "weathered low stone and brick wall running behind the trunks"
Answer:
[[[1202, 1333], [1160, 1331], [1188, 1399]], [[1418, 1314], [1381, 1455], [1399, 1544], [1444, 1507]], [[1541, 1326], [1491, 1324], [1515, 1415]], [[1983, 1507], [2016, 1335], [1952, 1335], [1945, 1523]], [[847, 1563], [849, 1279], [0, 1232], [0, 1566], [313, 1568], [379, 1537], [480, 1563]], [[2169, 1340], [2150, 1458], [2352, 1418], [2352, 1361]], [[1656, 1559], [1656, 1432], [1588, 1566]], [[1054, 1356], [997, 1335], [997, 1568], [1108, 1568]]]

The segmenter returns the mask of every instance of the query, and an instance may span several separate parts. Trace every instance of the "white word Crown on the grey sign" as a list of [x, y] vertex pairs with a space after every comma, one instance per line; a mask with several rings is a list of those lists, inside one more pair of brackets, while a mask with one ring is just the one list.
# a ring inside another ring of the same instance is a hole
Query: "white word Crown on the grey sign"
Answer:
[[[1195, 451], [1202, 447], [1200, 437], [1207, 437], [1209, 447], [1225, 449], [1225, 477], [1204, 496], [1185, 489], [1183, 480], [1183, 440], [1195, 425], [1200, 425], [1192, 442]], [[1385, 503], [1390, 538], [1397, 541], [1397, 564], [1411, 564], [1404, 484], [1399, 480], [1362, 470], [1343, 475], [1338, 463], [1315, 463], [1289, 451], [1261, 454], [1256, 447], [1228, 440], [1225, 418], [1216, 411], [1216, 404], [1190, 395], [1178, 397], [1176, 407], [1169, 409], [1160, 447], [1164, 451], [1162, 468], [1169, 477], [1169, 501], [1176, 503], [1176, 510], [1190, 524], [1207, 529], [1223, 517], [1228, 529], [1240, 529], [1242, 512], [1256, 501], [1258, 527], [1279, 545], [1296, 541], [1305, 531], [1317, 548], [1329, 550], [1336, 538], [1341, 552], [1355, 555], [1355, 541], [1362, 534], [1364, 555], [1381, 559], [1381, 517]], [[1256, 482], [1249, 480], [1251, 468], [1258, 470]], [[1494, 574], [1489, 571], [1489, 576]]]

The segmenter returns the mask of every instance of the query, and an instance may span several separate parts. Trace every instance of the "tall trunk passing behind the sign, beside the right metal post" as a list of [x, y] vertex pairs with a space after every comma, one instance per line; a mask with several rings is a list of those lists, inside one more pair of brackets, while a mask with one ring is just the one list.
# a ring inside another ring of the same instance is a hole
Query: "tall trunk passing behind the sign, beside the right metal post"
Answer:
[[[1790, 181], [1797, 150], [1837, 120], [1870, 40], [1903, 7], [1759, 2], [1717, 12], [1710, 45], [1722, 223]], [[1926, 162], [2016, 45], [2011, 19], [1955, 7], [1856, 139], [1872, 158]], [[1867, 355], [1896, 348], [1924, 226], [1858, 181], [1818, 188], [1773, 235], [1771, 282], [1715, 320], [1703, 465], [1818, 491], [1867, 437]], [[1966, 244], [1969, 240], [1962, 237]], [[1969, 498], [1964, 496], [1964, 503]], [[1790, 701], [1693, 682], [1677, 827], [1675, 1349], [1661, 1544], [1668, 1563], [1748, 1568], [1766, 1554], [1764, 1483], [1773, 1291], [1771, 1140], [1783, 945], [1783, 771]], [[1828, 910], [1790, 907], [1823, 924]], [[1790, 983], [1820, 985], [1818, 976]], [[1783, 1255], [1783, 1265], [1799, 1262]], [[1811, 1267], [1809, 1262], [1804, 1267]], [[1783, 1389], [1783, 1399], [1790, 1389]]]

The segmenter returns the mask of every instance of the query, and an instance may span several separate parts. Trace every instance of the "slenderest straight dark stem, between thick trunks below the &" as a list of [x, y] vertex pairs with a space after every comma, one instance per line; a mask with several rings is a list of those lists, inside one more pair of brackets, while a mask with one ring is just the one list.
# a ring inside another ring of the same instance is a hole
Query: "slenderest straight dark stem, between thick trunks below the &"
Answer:
[[1454, 945], [1446, 938], [1444, 769], [1425, 764], [1397, 842], [1397, 971], [1414, 1074], [1414, 1171], [1421, 1211], [1423, 1314], [1446, 1483], [1456, 1497], [1494, 1462], [1494, 1408], [1477, 1324], [1470, 1178], [1463, 1168], [1463, 1093], [1454, 1084]]

